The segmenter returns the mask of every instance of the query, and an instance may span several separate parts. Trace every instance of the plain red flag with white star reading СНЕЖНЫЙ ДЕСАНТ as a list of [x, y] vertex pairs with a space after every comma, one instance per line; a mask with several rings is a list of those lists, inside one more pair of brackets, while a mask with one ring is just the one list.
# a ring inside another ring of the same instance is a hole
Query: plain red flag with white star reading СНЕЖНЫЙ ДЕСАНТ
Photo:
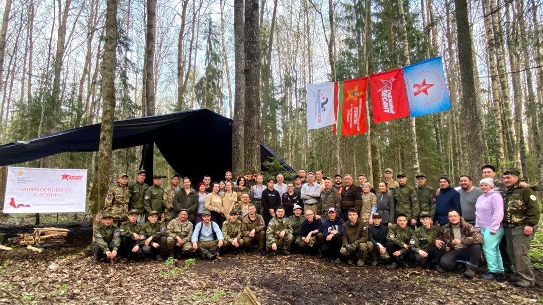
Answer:
[[371, 75], [370, 92], [374, 123], [409, 116], [402, 69]]

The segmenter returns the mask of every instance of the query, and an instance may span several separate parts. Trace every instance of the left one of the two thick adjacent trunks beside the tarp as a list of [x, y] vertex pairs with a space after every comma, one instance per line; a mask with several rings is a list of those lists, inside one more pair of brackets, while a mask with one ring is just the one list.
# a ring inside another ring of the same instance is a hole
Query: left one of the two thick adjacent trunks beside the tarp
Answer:
[[245, 170], [245, 51], [244, 51], [244, 0], [234, 1], [234, 53], [235, 53], [235, 100], [232, 122], [232, 173], [243, 175]]

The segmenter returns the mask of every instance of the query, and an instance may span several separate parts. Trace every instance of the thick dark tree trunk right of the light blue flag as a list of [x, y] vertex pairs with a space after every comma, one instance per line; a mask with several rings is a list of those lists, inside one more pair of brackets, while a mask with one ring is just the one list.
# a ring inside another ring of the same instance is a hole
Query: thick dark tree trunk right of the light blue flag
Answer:
[[481, 120], [477, 115], [477, 95], [475, 81], [473, 80], [473, 54], [471, 49], [470, 21], [468, 16], [468, 3], [466, 0], [456, 2], [456, 26], [458, 42], [458, 61], [460, 78], [462, 80], [462, 112], [464, 117], [464, 132], [466, 146], [470, 148], [468, 160], [468, 173], [477, 177], [479, 167], [483, 164], [483, 137]]

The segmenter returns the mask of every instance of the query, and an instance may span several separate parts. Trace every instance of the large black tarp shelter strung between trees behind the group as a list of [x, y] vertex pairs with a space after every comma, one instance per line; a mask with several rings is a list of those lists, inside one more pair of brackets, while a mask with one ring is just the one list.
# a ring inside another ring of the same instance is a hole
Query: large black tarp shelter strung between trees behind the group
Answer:
[[[98, 151], [100, 124], [75, 128], [0, 146], [0, 166], [35, 160], [66, 151]], [[113, 149], [156, 143], [178, 173], [200, 180], [223, 179], [231, 170], [232, 120], [211, 110], [200, 109], [115, 121]], [[294, 170], [269, 147], [260, 143], [261, 160], [274, 157]], [[153, 171], [153, 154], [143, 153], [140, 168]], [[152, 180], [152, 179], [151, 179]], [[151, 181], [152, 183], [152, 181]]]

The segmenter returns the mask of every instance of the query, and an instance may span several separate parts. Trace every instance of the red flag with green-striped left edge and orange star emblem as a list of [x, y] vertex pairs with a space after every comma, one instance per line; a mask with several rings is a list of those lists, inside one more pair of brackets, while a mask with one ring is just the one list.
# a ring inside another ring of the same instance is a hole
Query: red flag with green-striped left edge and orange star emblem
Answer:
[[336, 135], [351, 136], [363, 134], [366, 125], [366, 91], [368, 78], [357, 78], [339, 81], [337, 87], [336, 107], [337, 122], [333, 132]]

